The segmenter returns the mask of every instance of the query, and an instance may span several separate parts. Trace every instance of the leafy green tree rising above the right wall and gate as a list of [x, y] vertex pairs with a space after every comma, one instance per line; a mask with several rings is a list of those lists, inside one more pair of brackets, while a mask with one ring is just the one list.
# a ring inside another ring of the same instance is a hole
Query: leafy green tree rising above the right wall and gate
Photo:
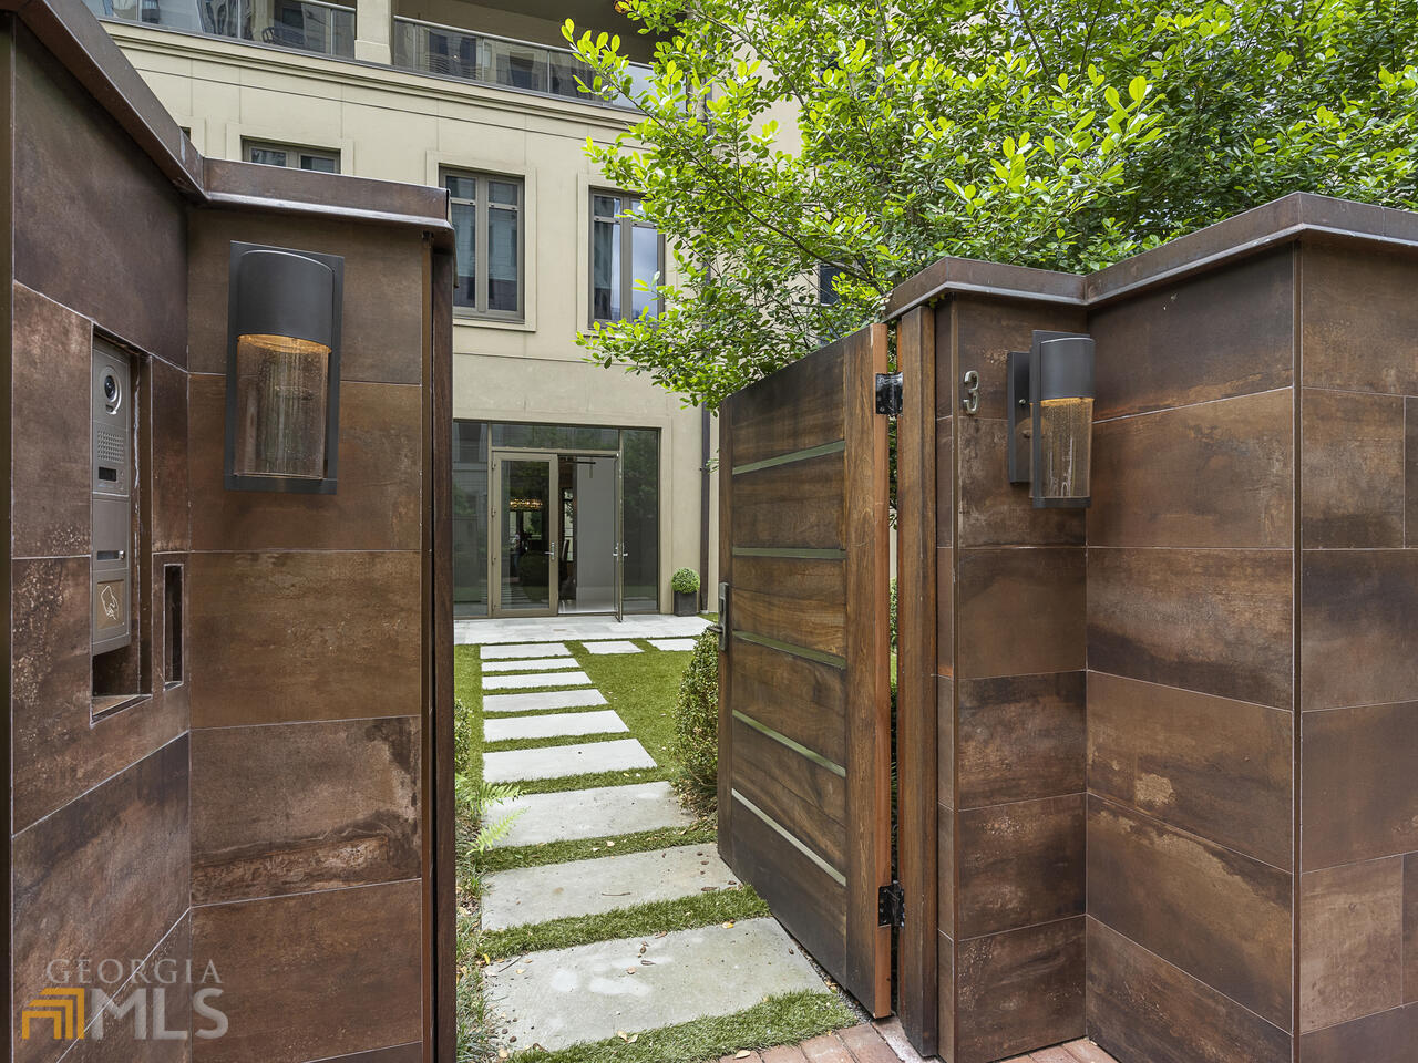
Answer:
[[1296, 190], [1418, 204], [1418, 0], [618, 7], [654, 77], [567, 23], [588, 88], [641, 112], [587, 153], [644, 196], [675, 281], [581, 343], [692, 403], [944, 255], [1089, 269]]

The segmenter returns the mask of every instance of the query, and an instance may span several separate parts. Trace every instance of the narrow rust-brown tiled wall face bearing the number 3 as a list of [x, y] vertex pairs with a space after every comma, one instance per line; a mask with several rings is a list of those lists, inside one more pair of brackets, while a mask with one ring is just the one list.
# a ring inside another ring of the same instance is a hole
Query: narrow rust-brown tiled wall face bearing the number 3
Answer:
[[937, 719], [937, 978], [951, 1063], [1083, 1033], [1088, 517], [1034, 509], [1008, 482], [1004, 420], [1008, 353], [1035, 329], [1083, 325], [1081, 309], [1024, 299], [951, 295], [936, 312], [936, 626], [953, 680]]

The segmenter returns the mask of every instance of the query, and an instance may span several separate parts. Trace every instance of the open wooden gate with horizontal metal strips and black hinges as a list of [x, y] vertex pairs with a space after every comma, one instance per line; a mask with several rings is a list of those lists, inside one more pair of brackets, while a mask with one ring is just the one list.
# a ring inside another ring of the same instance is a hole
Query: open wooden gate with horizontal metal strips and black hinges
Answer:
[[885, 325], [720, 408], [719, 848], [820, 964], [891, 1011]]

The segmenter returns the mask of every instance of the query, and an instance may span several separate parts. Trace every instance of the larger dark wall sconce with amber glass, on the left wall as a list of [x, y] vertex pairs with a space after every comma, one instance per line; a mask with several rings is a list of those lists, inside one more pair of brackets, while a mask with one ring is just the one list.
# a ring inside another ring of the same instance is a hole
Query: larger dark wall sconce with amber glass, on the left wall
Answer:
[[345, 259], [231, 244], [227, 490], [333, 495]]

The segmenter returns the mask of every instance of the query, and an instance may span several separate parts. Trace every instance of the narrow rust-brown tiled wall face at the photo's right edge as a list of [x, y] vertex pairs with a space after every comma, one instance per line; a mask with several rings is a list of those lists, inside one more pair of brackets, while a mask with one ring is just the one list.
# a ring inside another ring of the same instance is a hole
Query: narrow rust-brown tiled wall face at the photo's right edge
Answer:
[[1300, 255], [1300, 1062], [1411, 1063], [1418, 257]]

